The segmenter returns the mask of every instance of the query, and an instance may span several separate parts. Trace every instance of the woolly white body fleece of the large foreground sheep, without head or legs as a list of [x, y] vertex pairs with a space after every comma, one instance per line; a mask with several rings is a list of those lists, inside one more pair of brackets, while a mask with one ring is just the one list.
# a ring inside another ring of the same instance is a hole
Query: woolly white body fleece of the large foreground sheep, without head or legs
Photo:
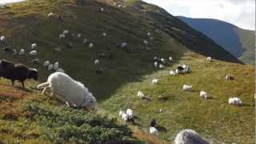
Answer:
[[85, 98], [92, 97], [92, 94], [81, 82], [74, 81], [67, 74], [59, 72], [51, 74], [48, 77], [48, 82], [53, 90], [54, 88], [58, 89], [54, 92], [64, 102], [81, 106]]

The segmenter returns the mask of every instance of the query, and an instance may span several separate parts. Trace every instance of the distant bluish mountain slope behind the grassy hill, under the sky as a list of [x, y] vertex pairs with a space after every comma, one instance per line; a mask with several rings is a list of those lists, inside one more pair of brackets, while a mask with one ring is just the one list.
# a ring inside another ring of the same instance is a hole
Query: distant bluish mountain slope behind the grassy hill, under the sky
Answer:
[[178, 17], [195, 30], [206, 34], [214, 42], [246, 64], [255, 64], [254, 31], [243, 30], [228, 22], [207, 18]]

